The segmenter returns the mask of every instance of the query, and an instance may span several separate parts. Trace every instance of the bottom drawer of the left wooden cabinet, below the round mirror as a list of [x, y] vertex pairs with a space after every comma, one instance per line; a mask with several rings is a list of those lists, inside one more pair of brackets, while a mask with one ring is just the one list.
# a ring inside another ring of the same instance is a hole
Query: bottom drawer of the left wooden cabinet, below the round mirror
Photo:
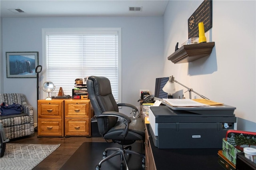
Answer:
[[38, 119], [38, 136], [63, 136], [62, 119]]

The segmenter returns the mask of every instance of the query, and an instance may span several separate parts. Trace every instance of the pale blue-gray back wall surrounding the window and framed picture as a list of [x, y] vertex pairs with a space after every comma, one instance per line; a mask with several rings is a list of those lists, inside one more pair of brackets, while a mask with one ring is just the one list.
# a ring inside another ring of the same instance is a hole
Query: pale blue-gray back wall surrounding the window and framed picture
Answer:
[[[138, 106], [139, 90], [150, 89], [154, 94], [155, 78], [162, 76], [163, 17], [2, 18], [2, 24], [3, 63], [6, 51], [38, 51], [42, 64], [42, 28], [122, 28], [124, 103]], [[24, 93], [36, 116], [36, 78], [6, 78], [6, 65], [2, 66], [3, 92]], [[41, 88], [44, 69], [40, 73], [39, 99], [45, 93]]]

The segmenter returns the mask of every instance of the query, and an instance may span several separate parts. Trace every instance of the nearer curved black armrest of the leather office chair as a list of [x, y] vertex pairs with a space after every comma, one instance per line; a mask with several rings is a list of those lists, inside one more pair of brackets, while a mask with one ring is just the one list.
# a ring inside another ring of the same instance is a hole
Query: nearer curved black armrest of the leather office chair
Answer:
[[129, 123], [131, 123], [131, 119], [122, 114], [122, 113], [119, 113], [119, 112], [114, 112], [114, 111], [106, 111], [106, 112], [103, 112], [102, 115], [97, 115], [97, 116], [94, 116], [96, 119], [99, 119], [99, 118], [104, 118], [104, 117], [120, 117], [122, 119], [124, 119], [124, 125], [125, 125], [125, 128], [124, 128], [124, 131], [120, 134], [120, 136], [122, 137], [125, 137], [127, 135], [127, 132], [128, 132], [128, 128], [129, 128]]

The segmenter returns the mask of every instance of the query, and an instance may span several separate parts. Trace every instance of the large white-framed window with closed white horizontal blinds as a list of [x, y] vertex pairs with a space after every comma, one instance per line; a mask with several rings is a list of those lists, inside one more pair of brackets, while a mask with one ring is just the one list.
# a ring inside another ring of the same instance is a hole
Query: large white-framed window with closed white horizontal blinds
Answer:
[[121, 28], [42, 29], [42, 40], [43, 82], [52, 81], [54, 92], [72, 95], [75, 79], [104, 76], [121, 102]]

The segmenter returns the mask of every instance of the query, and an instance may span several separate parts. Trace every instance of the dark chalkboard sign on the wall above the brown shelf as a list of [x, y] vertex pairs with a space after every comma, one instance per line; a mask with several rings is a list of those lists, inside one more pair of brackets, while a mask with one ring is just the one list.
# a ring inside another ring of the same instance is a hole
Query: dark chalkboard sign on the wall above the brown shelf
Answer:
[[198, 37], [199, 22], [204, 22], [204, 32], [212, 28], [212, 0], [204, 0], [188, 18], [188, 39]]

